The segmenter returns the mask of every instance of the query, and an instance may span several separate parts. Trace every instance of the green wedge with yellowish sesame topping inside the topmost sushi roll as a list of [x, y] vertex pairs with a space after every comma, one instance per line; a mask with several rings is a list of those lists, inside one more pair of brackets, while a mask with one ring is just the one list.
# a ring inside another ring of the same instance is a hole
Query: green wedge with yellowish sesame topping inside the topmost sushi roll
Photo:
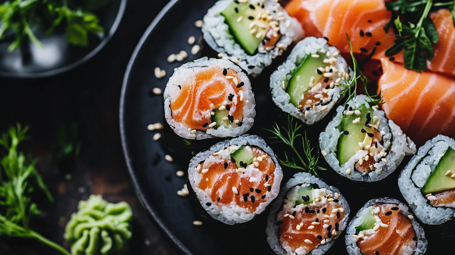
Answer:
[[[232, 3], [221, 12], [221, 15], [226, 19], [227, 25], [229, 25], [235, 39], [250, 55], [253, 55], [258, 50], [261, 41], [265, 38], [266, 33], [270, 28], [267, 21], [256, 19], [258, 15], [263, 14], [266, 14], [266, 12], [262, 6], [257, 4], [254, 5], [250, 1], [246, 3], [232, 1]], [[242, 19], [238, 21], [240, 17], [242, 17]], [[256, 26], [257, 33], [251, 34], [250, 25], [253, 21], [258, 25], [265, 25], [265, 28]], [[257, 36], [258, 34], [260, 36]]]

